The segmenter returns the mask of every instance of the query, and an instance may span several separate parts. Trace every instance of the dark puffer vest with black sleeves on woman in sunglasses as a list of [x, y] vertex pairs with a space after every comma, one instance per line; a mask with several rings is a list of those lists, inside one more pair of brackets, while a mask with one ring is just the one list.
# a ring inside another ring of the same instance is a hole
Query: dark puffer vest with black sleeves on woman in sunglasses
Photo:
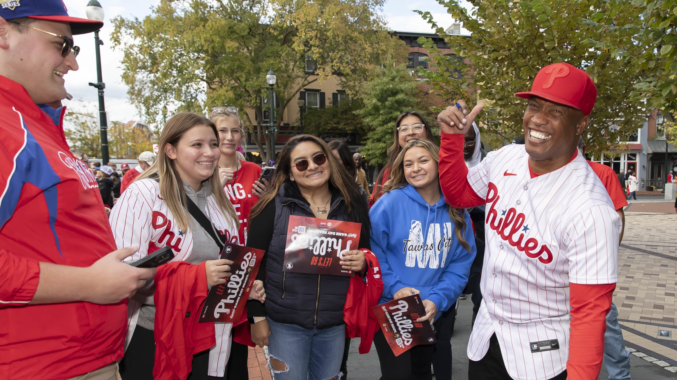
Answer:
[[[359, 222], [349, 219], [341, 192], [331, 186], [330, 189], [332, 200], [328, 219]], [[265, 316], [305, 329], [312, 329], [314, 325], [319, 329], [343, 325], [349, 277], [282, 271], [290, 215], [315, 216], [299, 187], [295, 183], [284, 183], [275, 199], [250, 220], [247, 246], [266, 251], [265, 271], [259, 270], [257, 276], [263, 279], [265, 275]], [[362, 229], [359, 247], [370, 248], [368, 229]], [[248, 302], [249, 316], [262, 314], [257, 303]]]

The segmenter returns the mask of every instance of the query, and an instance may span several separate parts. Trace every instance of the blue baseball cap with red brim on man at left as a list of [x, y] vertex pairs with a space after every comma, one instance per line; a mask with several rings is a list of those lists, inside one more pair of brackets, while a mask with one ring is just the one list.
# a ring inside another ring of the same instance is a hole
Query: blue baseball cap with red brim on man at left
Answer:
[[68, 22], [72, 34], [94, 32], [104, 26], [102, 21], [68, 16], [68, 9], [62, 0], [0, 0], [0, 17], [5, 20], [27, 17]]

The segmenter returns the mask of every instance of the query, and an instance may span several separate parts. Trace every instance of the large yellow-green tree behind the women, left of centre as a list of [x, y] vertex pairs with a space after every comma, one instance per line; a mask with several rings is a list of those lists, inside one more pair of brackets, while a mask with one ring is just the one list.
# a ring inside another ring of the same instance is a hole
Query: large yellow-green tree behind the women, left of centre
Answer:
[[383, 1], [162, 0], [143, 20], [116, 18], [112, 41], [125, 52], [123, 80], [141, 114], [157, 121], [167, 103], [203, 113], [224, 104], [253, 109], [254, 120], [244, 114], [250, 133], [271, 152], [277, 131], [265, 133], [262, 101], [268, 70], [277, 75], [276, 115], [334, 73], [359, 93], [383, 56], [406, 49], [377, 14]]

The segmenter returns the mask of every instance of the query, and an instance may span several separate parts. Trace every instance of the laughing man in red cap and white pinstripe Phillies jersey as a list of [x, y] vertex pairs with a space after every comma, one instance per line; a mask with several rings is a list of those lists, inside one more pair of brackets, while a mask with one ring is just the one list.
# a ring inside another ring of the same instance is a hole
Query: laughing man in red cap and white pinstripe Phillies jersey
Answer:
[[[439, 114], [447, 204], [486, 204], [483, 295], [468, 343], [470, 379], [597, 379], [617, 281], [621, 220], [577, 150], [597, 89], [570, 64], [542, 68], [523, 117], [525, 145], [463, 162], [464, 134], [483, 105]], [[458, 178], [466, 181], [458, 181]]]

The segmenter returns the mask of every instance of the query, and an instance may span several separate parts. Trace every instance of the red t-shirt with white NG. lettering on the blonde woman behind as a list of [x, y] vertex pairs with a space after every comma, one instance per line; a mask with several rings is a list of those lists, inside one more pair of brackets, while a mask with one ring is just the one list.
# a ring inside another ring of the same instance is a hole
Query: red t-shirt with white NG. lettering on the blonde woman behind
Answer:
[[252, 193], [252, 185], [261, 175], [261, 166], [240, 160], [240, 169], [233, 173], [233, 181], [225, 187], [225, 196], [233, 204], [240, 222], [240, 242], [246, 243], [247, 230], [249, 226], [249, 212], [259, 201], [259, 196]]

